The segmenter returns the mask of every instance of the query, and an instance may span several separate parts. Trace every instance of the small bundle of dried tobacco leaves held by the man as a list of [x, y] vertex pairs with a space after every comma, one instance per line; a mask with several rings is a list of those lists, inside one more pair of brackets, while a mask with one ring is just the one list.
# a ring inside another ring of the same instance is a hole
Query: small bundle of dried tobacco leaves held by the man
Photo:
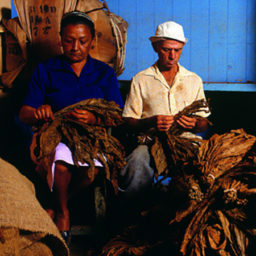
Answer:
[[[186, 115], [187, 117], [195, 117], [196, 119], [205, 119], [210, 123], [207, 118], [198, 115], [199, 112], [210, 112], [209, 104], [204, 99], [194, 101], [191, 105], [174, 115], [174, 120], [176, 121], [182, 115]], [[196, 136], [184, 136], [186, 131], [174, 122], [167, 132], [155, 134], [154, 144], [151, 147], [151, 155], [156, 165], [156, 180], [158, 180], [159, 175], [164, 175], [161, 181], [168, 176], [171, 177], [177, 162], [193, 158], [197, 155], [199, 144], [203, 140]]]

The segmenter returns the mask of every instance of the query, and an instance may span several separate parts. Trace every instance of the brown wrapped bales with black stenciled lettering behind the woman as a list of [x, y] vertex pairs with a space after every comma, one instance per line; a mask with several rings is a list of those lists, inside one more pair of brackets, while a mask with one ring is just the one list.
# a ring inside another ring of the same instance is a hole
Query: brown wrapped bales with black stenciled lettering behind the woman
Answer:
[[[98, 0], [14, 0], [14, 3], [20, 24], [15, 19], [9, 24], [5, 22], [4, 25], [9, 34], [13, 33], [21, 49], [27, 47], [27, 52], [19, 51], [19, 57], [23, 57], [29, 68], [24, 69], [24, 64], [9, 67], [9, 72], [1, 75], [2, 86], [12, 87], [11, 83], [22, 68], [26, 73], [23, 77], [30, 77], [40, 61], [63, 52], [59, 46], [60, 21], [64, 13], [73, 10], [88, 13], [95, 23], [96, 43], [90, 55], [113, 67], [117, 76], [123, 72], [128, 24], [121, 17], [110, 13], [105, 1], [102, 3]], [[22, 27], [24, 33], [18, 29], [14, 30], [14, 26]], [[27, 43], [23, 39], [20, 40], [20, 36], [23, 38], [24, 34]], [[10, 54], [7, 57], [9, 60], [17, 58]]]

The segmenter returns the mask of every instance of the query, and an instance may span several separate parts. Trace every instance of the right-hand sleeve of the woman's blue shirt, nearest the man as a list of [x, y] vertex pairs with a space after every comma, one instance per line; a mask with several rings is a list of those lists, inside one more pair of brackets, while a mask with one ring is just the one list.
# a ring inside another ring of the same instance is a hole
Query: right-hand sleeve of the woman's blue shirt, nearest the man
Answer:
[[108, 85], [105, 91], [104, 100], [114, 101], [120, 108], [123, 108], [123, 100], [119, 90], [117, 77], [112, 68], [110, 68], [108, 72]]

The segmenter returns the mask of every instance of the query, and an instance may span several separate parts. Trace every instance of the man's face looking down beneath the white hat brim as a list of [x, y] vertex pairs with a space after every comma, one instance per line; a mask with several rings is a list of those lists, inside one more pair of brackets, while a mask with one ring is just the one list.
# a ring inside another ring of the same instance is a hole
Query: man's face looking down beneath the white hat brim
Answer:
[[176, 40], [164, 40], [153, 44], [154, 50], [158, 53], [158, 63], [162, 70], [170, 70], [175, 67], [180, 59], [184, 43]]

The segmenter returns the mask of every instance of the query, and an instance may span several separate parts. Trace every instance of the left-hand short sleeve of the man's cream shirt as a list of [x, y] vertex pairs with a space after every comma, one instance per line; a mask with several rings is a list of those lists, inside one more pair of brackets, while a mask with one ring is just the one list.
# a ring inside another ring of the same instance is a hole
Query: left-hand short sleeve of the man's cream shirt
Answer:
[[123, 117], [132, 117], [141, 119], [143, 110], [143, 103], [141, 97], [141, 88], [139, 82], [135, 78], [131, 80], [131, 86], [125, 101], [125, 108], [123, 110]]

